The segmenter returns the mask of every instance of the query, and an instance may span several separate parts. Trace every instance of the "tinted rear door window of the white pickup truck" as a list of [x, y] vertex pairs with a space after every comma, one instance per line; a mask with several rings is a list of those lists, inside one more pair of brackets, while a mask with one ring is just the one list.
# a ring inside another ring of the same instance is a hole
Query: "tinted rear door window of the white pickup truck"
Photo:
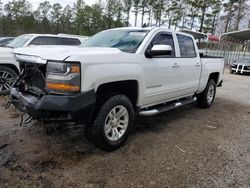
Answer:
[[181, 57], [196, 57], [194, 42], [191, 37], [177, 34]]

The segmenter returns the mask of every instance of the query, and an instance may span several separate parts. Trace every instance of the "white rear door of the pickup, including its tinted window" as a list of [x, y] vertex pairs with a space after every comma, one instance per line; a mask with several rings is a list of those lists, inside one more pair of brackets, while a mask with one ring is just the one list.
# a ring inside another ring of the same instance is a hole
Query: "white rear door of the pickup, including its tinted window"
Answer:
[[199, 87], [201, 74], [201, 60], [197, 54], [194, 40], [190, 36], [176, 34], [179, 44], [178, 80], [181, 96], [194, 94]]

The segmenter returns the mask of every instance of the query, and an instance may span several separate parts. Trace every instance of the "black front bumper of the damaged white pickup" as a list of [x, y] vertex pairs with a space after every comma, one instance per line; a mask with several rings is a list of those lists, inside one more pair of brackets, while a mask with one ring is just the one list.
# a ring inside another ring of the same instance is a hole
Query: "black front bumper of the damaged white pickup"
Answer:
[[20, 92], [17, 88], [11, 89], [10, 100], [19, 111], [48, 122], [57, 119], [85, 121], [91, 118], [96, 102], [94, 90], [76, 95], [44, 95], [39, 98]]

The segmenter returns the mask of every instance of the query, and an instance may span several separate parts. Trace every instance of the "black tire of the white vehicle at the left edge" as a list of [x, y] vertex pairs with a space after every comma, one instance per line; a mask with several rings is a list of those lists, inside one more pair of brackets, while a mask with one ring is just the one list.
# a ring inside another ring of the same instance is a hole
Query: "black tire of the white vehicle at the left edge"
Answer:
[[[4, 74], [6, 73], [8, 73], [7, 78], [9, 79], [9, 81], [7, 81], [6, 78], [4, 78], [5, 77]], [[6, 87], [9, 87], [10, 85], [12, 85], [17, 77], [18, 75], [15, 70], [7, 66], [0, 66], [0, 95], [9, 94], [10, 88], [6, 88]], [[10, 79], [11, 79], [11, 82], [10, 82]], [[8, 86], [6, 84], [8, 84]]]

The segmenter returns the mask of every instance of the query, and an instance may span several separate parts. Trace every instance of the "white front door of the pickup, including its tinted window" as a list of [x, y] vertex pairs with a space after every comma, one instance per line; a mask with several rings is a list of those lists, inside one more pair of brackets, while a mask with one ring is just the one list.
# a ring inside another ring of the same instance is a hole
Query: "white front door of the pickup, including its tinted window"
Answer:
[[158, 33], [148, 49], [154, 45], [163, 44], [172, 47], [171, 55], [146, 58], [144, 66], [145, 93], [144, 104], [154, 105], [166, 102], [179, 96], [180, 67], [176, 63], [176, 48], [172, 33]]

